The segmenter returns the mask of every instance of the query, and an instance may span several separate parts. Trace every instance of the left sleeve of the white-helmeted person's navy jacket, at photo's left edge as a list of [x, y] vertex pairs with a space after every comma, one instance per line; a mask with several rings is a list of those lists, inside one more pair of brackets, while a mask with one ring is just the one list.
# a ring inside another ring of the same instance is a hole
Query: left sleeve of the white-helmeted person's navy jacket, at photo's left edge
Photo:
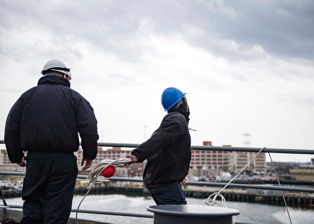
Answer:
[[23, 98], [20, 97], [11, 108], [4, 129], [4, 142], [11, 163], [17, 163], [24, 157], [20, 143], [20, 128], [23, 115]]

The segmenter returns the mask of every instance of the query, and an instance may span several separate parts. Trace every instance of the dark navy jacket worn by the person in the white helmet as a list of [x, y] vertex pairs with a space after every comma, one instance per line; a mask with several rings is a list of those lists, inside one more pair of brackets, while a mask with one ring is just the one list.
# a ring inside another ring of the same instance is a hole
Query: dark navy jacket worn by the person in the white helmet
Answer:
[[97, 120], [89, 102], [58, 76], [44, 76], [21, 95], [5, 124], [4, 141], [11, 163], [28, 152], [78, 151], [80, 134], [83, 156], [97, 155]]

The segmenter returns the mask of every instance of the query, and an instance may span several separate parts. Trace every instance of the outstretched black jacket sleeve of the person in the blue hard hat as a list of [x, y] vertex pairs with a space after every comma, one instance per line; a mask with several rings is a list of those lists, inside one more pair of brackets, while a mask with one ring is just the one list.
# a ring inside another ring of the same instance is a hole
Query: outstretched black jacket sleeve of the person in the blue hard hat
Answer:
[[[175, 119], [171, 119], [175, 118]], [[143, 163], [145, 159], [154, 155], [156, 152], [178, 140], [184, 134], [182, 122], [185, 119], [177, 115], [170, 115], [164, 119], [159, 128], [154, 131], [152, 136], [136, 149], [132, 151], [132, 155], [138, 158], [138, 163]]]

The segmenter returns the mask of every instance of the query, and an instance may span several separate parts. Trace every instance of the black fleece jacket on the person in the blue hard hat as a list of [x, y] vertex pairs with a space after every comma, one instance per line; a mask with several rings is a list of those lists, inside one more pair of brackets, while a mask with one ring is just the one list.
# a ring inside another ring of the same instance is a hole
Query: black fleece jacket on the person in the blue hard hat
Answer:
[[189, 172], [191, 137], [189, 112], [171, 109], [152, 136], [132, 151], [138, 163], [147, 159], [143, 180], [146, 188], [181, 182]]

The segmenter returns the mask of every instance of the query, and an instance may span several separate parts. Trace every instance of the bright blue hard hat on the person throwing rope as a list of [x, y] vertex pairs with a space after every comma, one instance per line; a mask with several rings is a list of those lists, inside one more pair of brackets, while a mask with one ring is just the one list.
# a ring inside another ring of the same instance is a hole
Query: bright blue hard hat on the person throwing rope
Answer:
[[165, 111], [174, 107], [187, 93], [183, 93], [181, 90], [170, 87], [166, 88], [161, 94], [161, 104]]

